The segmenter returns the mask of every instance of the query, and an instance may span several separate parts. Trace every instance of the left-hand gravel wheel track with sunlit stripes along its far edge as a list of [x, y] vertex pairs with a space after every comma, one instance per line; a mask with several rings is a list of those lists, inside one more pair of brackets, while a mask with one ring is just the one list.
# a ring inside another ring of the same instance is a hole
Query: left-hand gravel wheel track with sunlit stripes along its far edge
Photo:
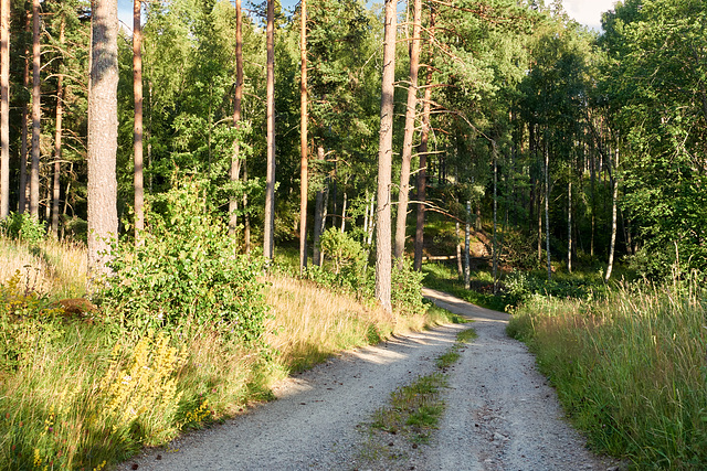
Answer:
[[434, 358], [464, 328], [441, 327], [344, 353], [281, 383], [274, 390], [277, 400], [147, 450], [117, 469], [356, 469], [365, 441], [360, 424], [397, 387], [434, 372]]

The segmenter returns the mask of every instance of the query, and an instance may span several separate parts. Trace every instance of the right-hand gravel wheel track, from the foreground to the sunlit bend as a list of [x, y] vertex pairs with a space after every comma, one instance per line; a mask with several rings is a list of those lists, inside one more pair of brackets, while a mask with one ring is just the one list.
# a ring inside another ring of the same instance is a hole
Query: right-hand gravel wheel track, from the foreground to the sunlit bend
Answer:
[[473, 319], [477, 339], [449, 373], [446, 414], [425, 470], [615, 470], [562, 419], [557, 395], [525, 344], [506, 335], [508, 314], [425, 289], [437, 306]]

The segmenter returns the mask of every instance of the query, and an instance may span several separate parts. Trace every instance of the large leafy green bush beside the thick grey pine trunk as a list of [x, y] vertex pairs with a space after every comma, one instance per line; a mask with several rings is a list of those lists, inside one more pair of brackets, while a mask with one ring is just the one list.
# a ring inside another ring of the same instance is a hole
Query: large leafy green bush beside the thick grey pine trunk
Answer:
[[204, 201], [203, 185], [181, 183], [156, 199], [146, 223], [149, 232], [137, 247], [115, 249], [115, 275], [102, 292], [110, 318], [139, 332], [196, 323], [258, 341], [262, 261], [235, 255], [235, 240]]

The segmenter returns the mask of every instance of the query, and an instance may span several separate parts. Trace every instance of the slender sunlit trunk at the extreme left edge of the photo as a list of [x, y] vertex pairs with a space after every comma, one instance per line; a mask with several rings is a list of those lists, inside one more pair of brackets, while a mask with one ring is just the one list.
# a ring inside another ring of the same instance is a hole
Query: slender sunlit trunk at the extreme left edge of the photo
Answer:
[[10, 0], [0, 2], [0, 220], [10, 214]]

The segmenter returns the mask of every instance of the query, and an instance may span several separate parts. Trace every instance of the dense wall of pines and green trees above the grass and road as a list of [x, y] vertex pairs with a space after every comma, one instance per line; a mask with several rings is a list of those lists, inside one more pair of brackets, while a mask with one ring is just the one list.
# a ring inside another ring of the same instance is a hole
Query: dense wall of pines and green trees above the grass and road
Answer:
[[[626, 0], [602, 33], [558, 1], [135, 6], [135, 35], [101, 55], [115, 1], [2, 2], [2, 216], [91, 239], [115, 205], [106, 231], [139, 239], [143, 191], [158, 211], [191, 179], [236, 250], [299, 239], [303, 270], [328, 227], [378, 247], [381, 274], [393, 254], [419, 269], [430, 211], [488, 233], [495, 278], [503, 261], [704, 268], [704, 2]], [[117, 122], [99, 122], [92, 57], [113, 56]], [[92, 186], [101, 137], [117, 141], [117, 200], [94, 207], [113, 191]]]

